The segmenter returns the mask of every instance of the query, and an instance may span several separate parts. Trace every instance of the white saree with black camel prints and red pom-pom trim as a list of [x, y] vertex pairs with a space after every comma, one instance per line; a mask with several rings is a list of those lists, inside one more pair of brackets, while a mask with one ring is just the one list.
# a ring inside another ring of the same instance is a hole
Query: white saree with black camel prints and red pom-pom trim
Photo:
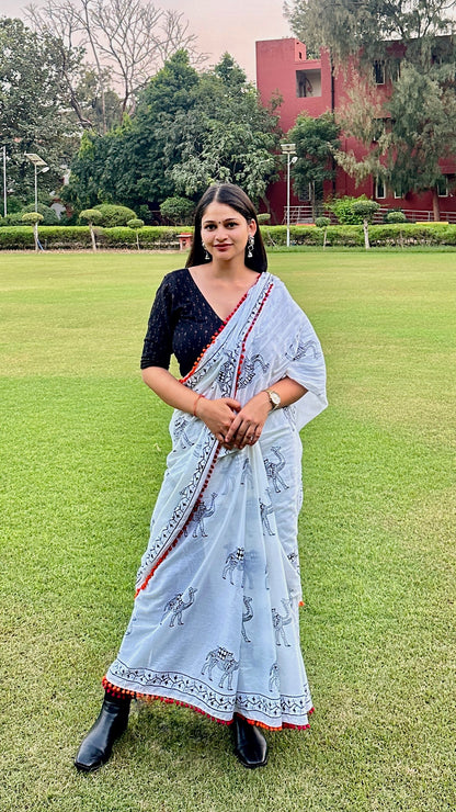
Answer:
[[172, 450], [138, 571], [130, 622], [103, 680], [115, 693], [185, 704], [229, 724], [307, 728], [299, 645], [299, 429], [327, 405], [318, 338], [283, 283], [258, 282], [182, 382], [241, 404], [292, 377], [307, 393], [260, 440], [220, 447], [175, 410]]

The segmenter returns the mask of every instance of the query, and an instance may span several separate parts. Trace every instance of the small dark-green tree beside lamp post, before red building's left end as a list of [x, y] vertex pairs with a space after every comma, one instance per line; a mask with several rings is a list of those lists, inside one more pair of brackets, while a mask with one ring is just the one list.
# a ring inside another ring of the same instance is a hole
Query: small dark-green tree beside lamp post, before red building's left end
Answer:
[[340, 127], [332, 113], [318, 119], [299, 115], [287, 140], [296, 144], [296, 163], [292, 167], [296, 194], [306, 200], [309, 194], [312, 217], [317, 217], [317, 201], [323, 198], [323, 182], [335, 178], [334, 154], [340, 148]]

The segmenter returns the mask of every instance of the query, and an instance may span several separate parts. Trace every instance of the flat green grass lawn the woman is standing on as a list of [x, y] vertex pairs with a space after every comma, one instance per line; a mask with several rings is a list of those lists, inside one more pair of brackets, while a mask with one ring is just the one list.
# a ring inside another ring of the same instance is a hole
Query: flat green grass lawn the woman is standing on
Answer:
[[452, 252], [273, 252], [326, 351], [330, 408], [304, 433], [301, 642], [311, 731], [248, 771], [229, 732], [140, 707], [76, 772], [128, 621], [169, 448], [141, 383], [176, 255], [1, 261], [0, 809], [456, 809]]

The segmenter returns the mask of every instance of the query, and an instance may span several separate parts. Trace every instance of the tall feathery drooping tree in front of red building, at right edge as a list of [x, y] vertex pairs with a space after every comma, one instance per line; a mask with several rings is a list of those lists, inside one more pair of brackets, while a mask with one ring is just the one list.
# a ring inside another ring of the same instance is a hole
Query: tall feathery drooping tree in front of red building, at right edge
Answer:
[[[294, 0], [287, 13], [297, 35], [306, 36], [305, 26], [345, 67], [340, 122], [364, 155], [339, 151], [339, 163], [357, 181], [374, 174], [402, 193], [431, 190], [438, 218], [438, 161], [456, 154], [456, 49], [448, 35], [456, 1]], [[377, 92], [376, 70], [386, 94]]]

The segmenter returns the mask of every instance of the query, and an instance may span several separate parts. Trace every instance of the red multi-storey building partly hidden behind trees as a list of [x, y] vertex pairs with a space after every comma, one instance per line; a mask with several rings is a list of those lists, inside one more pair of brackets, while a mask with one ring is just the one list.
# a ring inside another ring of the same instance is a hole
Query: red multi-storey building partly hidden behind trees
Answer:
[[[381, 65], [376, 70], [378, 93], [388, 92], [385, 84]], [[293, 127], [299, 113], [319, 116], [328, 111], [338, 111], [346, 101], [346, 79], [343, 72], [332, 75], [329, 55], [322, 50], [319, 59], [307, 59], [306, 46], [299, 40], [264, 40], [256, 43], [256, 86], [264, 104], [273, 95], [280, 94], [283, 102], [278, 109], [281, 127], [287, 133]], [[353, 138], [341, 138], [342, 149], [353, 150], [358, 157], [363, 147]], [[456, 161], [449, 158], [441, 162], [444, 180], [440, 188], [441, 219], [456, 223], [456, 195], [449, 189], [456, 174]], [[453, 184], [454, 187], [454, 184]], [[334, 183], [327, 183], [324, 196], [366, 194], [385, 208], [402, 208], [410, 219], [432, 219], [432, 192], [415, 194], [408, 192], [403, 196], [377, 183], [369, 178], [356, 185], [353, 178], [340, 167]], [[286, 178], [272, 184], [267, 196], [271, 203], [272, 222], [282, 223], [286, 210]], [[306, 201], [299, 201], [290, 193], [290, 221], [306, 219]], [[298, 206], [301, 204], [299, 211]], [[308, 215], [308, 211], [307, 211]]]

